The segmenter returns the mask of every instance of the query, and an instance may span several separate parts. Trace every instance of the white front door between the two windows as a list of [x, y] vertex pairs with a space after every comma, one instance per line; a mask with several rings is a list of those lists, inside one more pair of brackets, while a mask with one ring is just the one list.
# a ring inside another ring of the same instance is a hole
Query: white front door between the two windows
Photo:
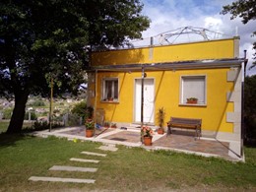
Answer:
[[[154, 79], [144, 79], [144, 123], [154, 123], [154, 106], [155, 106], [155, 89]], [[141, 122], [141, 96], [142, 96], [142, 80], [135, 80], [135, 103], [134, 117], [135, 122]]]

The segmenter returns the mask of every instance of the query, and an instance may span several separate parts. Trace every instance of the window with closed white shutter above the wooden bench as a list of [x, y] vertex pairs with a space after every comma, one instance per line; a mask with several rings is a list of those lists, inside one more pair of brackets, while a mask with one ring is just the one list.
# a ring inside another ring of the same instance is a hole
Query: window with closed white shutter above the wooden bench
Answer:
[[197, 98], [198, 104], [206, 104], [206, 76], [181, 77], [180, 102], [187, 103], [187, 98]]

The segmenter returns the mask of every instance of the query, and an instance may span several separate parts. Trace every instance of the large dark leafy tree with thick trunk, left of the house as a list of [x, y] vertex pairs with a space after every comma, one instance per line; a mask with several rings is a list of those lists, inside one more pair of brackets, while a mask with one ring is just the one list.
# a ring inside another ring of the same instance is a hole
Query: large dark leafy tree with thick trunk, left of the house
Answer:
[[30, 95], [76, 94], [92, 45], [141, 37], [149, 19], [139, 0], [2, 0], [0, 96], [15, 99], [7, 133], [20, 132]]

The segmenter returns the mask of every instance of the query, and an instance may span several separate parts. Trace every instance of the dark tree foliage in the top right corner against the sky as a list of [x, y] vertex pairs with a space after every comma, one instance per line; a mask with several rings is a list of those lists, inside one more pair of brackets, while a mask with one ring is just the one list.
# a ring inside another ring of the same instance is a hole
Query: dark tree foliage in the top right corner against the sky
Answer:
[[[232, 2], [231, 5], [226, 5], [223, 7], [222, 14], [230, 13], [231, 20], [239, 17], [242, 18], [242, 23], [247, 24], [251, 20], [256, 19], [256, 0], [237, 0]], [[256, 31], [253, 32], [256, 35]], [[253, 43], [253, 49], [256, 50], [256, 42]], [[256, 59], [256, 53], [254, 53], [254, 59]], [[251, 68], [256, 66], [256, 61], [253, 62]]]

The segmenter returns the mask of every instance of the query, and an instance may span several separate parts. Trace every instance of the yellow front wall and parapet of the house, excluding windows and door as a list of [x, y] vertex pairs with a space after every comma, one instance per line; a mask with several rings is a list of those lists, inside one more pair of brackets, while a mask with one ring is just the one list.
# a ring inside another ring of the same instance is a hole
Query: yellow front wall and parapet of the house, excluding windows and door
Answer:
[[[160, 63], [238, 57], [238, 37], [222, 40], [183, 43], [159, 47], [94, 52], [93, 66]], [[207, 65], [207, 63], [206, 63]], [[127, 70], [128, 71], [128, 70]], [[164, 107], [165, 119], [170, 116], [201, 118], [203, 136], [222, 140], [240, 140], [241, 69], [209, 68], [175, 71], [147, 71], [155, 80], [155, 125], [158, 109]], [[182, 76], [206, 77], [206, 103], [180, 104]], [[89, 76], [88, 103], [103, 108], [105, 121], [129, 126], [134, 122], [135, 79], [141, 72], [98, 72]], [[118, 78], [119, 99], [101, 100], [103, 78]]]

